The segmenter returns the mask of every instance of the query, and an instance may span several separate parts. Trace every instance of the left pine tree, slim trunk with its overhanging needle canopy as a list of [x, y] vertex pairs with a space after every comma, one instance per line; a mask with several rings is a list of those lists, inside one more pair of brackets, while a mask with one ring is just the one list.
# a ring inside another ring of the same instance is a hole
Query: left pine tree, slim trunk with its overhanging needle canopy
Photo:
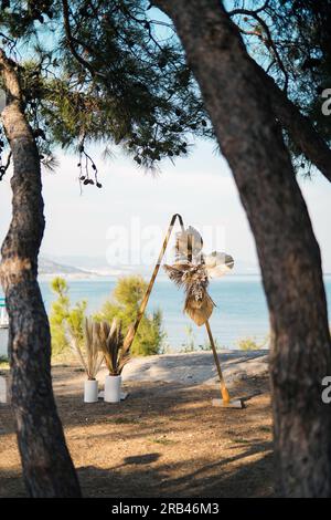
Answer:
[[12, 406], [32, 497], [81, 495], [53, 396], [50, 324], [36, 280], [44, 232], [41, 164], [56, 166], [54, 149], [72, 147], [81, 181], [100, 187], [92, 142], [105, 143], [106, 150], [120, 144], [138, 165], [153, 168], [163, 157], [186, 155], [190, 134], [212, 135], [178, 40], [159, 41], [142, 6], [2, 2], [0, 179], [10, 160], [14, 174], [0, 275], [11, 324]]

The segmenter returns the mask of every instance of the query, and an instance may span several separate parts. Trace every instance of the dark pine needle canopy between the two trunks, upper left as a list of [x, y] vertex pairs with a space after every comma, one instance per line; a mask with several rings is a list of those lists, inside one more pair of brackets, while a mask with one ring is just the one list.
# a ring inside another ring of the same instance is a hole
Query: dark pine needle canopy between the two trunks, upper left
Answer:
[[153, 168], [185, 156], [193, 135], [213, 136], [173, 27], [153, 14], [146, 0], [11, 2], [0, 12], [7, 54], [18, 61], [24, 44], [19, 73], [44, 164], [54, 146], [74, 147], [81, 180], [99, 185], [90, 142], [121, 145]]

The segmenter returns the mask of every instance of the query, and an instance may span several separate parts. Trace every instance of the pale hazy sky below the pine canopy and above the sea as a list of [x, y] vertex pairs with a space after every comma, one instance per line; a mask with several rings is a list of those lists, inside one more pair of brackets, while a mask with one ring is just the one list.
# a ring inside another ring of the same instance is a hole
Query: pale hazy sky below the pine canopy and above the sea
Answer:
[[[172, 165], [161, 163], [161, 173], [139, 169], [120, 153], [103, 159], [102, 149], [92, 149], [99, 169], [102, 189], [84, 187], [79, 193], [77, 157], [57, 154], [56, 173], [43, 173], [46, 229], [41, 254], [84, 267], [84, 259], [120, 267], [152, 264], [163, 233], [174, 212], [204, 238], [204, 250], [223, 250], [236, 266], [256, 271], [255, 243], [236, 186], [225, 159], [214, 153], [214, 144], [197, 141], [188, 158]], [[8, 175], [0, 184], [0, 240], [11, 216]], [[317, 239], [323, 270], [331, 272], [330, 183], [317, 173], [313, 180], [300, 179]], [[81, 257], [73, 260], [72, 257]], [[242, 268], [238, 268], [239, 270]]]

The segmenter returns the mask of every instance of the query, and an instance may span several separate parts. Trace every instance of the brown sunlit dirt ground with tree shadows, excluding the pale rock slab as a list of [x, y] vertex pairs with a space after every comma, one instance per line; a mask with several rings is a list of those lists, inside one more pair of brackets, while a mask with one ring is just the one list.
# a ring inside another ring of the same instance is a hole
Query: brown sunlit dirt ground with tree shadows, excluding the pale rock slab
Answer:
[[[130, 384], [128, 399], [118, 405], [86, 405], [81, 386], [57, 391], [57, 408], [84, 495], [271, 496], [269, 396], [266, 382], [259, 379], [258, 385], [265, 393], [245, 410], [212, 407], [210, 399], [220, 391], [211, 386]], [[22, 496], [9, 406], [1, 409], [1, 419], [0, 496]]]

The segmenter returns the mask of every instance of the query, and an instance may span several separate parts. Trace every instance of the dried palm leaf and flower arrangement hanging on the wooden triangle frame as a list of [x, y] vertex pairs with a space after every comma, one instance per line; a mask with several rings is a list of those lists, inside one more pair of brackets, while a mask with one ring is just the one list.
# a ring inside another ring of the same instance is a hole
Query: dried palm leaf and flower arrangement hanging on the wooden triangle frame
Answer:
[[209, 278], [223, 275], [234, 266], [229, 254], [214, 251], [204, 256], [202, 246], [201, 235], [190, 226], [175, 236], [175, 263], [163, 266], [170, 280], [184, 289], [184, 312], [199, 326], [206, 323], [215, 306], [207, 293]]

